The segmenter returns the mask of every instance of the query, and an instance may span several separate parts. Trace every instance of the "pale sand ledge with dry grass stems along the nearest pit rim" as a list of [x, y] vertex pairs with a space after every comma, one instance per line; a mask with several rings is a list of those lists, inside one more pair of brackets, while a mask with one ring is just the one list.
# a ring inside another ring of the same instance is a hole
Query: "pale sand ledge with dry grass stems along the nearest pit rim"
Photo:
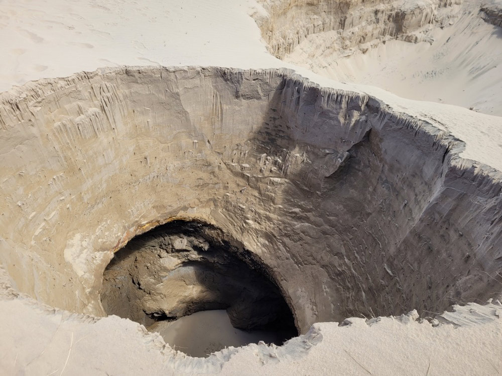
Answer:
[[0, 300], [0, 369], [5, 375], [44, 376], [51, 372], [72, 376], [499, 374], [502, 308], [471, 304], [458, 309], [447, 316], [462, 324], [457, 328], [434, 328], [409, 316], [382, 318], [373, 325], [366, 325], [364, 319], [351, 319], [352, 324], [343, 327], [318, 323], [309, 335], [285, 346], [253, 344], [198, 360], [183, 353], [172, 356], [160, 335], [146, 334], [138, 324], [116, 316], [82, 323], [26, 300]]

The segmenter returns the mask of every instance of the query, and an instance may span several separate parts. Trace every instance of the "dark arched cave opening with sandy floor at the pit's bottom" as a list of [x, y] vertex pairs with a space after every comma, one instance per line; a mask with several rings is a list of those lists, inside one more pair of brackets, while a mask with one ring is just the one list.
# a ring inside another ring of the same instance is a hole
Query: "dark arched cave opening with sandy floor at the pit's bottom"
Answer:
[[218, 228], [175, 220], [133, 238], [103, 274], [108, 315], [129, 318], [192, 356], [297, 336], [267, 267]]

